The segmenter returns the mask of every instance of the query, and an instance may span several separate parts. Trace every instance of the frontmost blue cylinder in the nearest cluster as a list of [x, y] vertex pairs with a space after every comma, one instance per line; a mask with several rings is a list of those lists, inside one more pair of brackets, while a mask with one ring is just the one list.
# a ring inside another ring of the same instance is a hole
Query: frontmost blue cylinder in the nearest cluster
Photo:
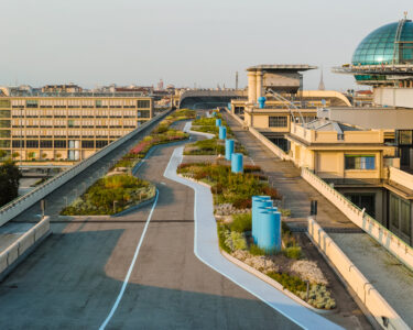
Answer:
[[281, 213], [278, 211], [259, 212], [260, 234], [258, 246], [268, 253], [281, 250]]

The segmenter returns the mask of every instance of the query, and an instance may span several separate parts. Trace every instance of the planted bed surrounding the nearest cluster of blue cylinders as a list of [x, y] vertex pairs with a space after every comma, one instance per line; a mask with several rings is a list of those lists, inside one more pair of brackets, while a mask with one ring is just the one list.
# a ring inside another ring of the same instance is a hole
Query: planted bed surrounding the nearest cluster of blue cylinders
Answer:
[[[259, 166], [244, 166], [233, 174], [229, 166], [208, 163], [182, 164], [182, 176], [206, 183], [214, 196], [219, 248], [244, 264], [279, 282], [284, 288], [319, 309], [334, 309], [336, 301], [316, 262], [305, 258], [300, 241], [282, 222], [282, 251], [267, 254], [251, 238], [251, 198], [271, 196], [280, 200]], [[290, 210], [280, 209], [283, 216]], [[308, 283], [308, 293], [307, 293]]]

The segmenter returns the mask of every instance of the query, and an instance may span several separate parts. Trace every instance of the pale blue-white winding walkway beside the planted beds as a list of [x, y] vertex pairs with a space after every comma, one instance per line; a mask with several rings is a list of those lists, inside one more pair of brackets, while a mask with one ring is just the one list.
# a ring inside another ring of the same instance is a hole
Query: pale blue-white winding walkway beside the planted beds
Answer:
[[[195, 133], [195, 132], [194, 132]], [[217, 226], [214, 218], [213, 195], [208, 187], [177, 176], [184, 147], [174, 150], [164, 177], [186, 185], [195, 191], [195, 255], [209, 267], [222, 274], [271, 308], [304, 329], [341, 329], [339, 326], [301, 306], [280, 290], [225, 258], [218, 248]]]

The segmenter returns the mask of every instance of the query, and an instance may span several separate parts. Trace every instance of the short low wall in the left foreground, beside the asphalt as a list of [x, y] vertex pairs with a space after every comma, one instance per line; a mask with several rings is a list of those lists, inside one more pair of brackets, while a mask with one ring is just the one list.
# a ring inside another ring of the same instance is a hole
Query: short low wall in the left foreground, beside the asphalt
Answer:
[[30, 249], [33, 249], [50, 233], [50, 218], [45, 217], [0, 253], [0, 280], [2, 280], [28, 255]]

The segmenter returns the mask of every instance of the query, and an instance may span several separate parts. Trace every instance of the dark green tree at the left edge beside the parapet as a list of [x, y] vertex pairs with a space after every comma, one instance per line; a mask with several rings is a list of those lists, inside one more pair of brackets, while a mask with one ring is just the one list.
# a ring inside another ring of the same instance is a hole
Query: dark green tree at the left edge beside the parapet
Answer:
[[19, 167], [10, 160], [0, 166], [0, 207], [19, 196], [21, 176]]

